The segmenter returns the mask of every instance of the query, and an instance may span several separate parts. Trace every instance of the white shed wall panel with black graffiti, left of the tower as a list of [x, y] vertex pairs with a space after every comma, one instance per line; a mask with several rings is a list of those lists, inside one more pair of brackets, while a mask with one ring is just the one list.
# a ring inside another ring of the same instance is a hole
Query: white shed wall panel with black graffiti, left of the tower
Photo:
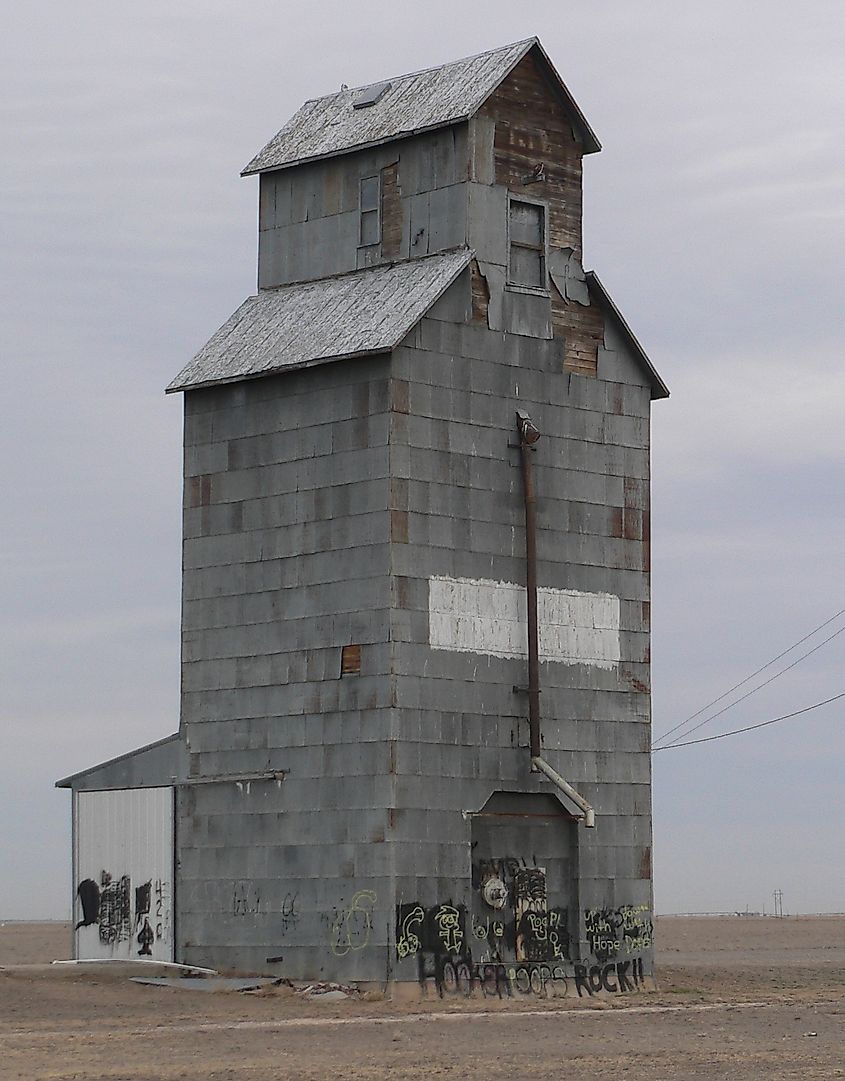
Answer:
[[173, 960], [173, 788], [73, 793], [75, 953]]

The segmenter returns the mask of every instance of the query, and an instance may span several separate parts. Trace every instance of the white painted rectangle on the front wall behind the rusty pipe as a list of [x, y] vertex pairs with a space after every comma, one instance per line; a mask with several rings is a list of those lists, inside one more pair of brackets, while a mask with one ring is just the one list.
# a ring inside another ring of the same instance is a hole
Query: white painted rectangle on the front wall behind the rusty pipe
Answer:
[[[429, 578], [429, 643], [434, 650], [527, 656], [525, 587], [486, 578]], [[540, 660], [613, 668], [619, 663], [619, 598], [538, 589]]]

